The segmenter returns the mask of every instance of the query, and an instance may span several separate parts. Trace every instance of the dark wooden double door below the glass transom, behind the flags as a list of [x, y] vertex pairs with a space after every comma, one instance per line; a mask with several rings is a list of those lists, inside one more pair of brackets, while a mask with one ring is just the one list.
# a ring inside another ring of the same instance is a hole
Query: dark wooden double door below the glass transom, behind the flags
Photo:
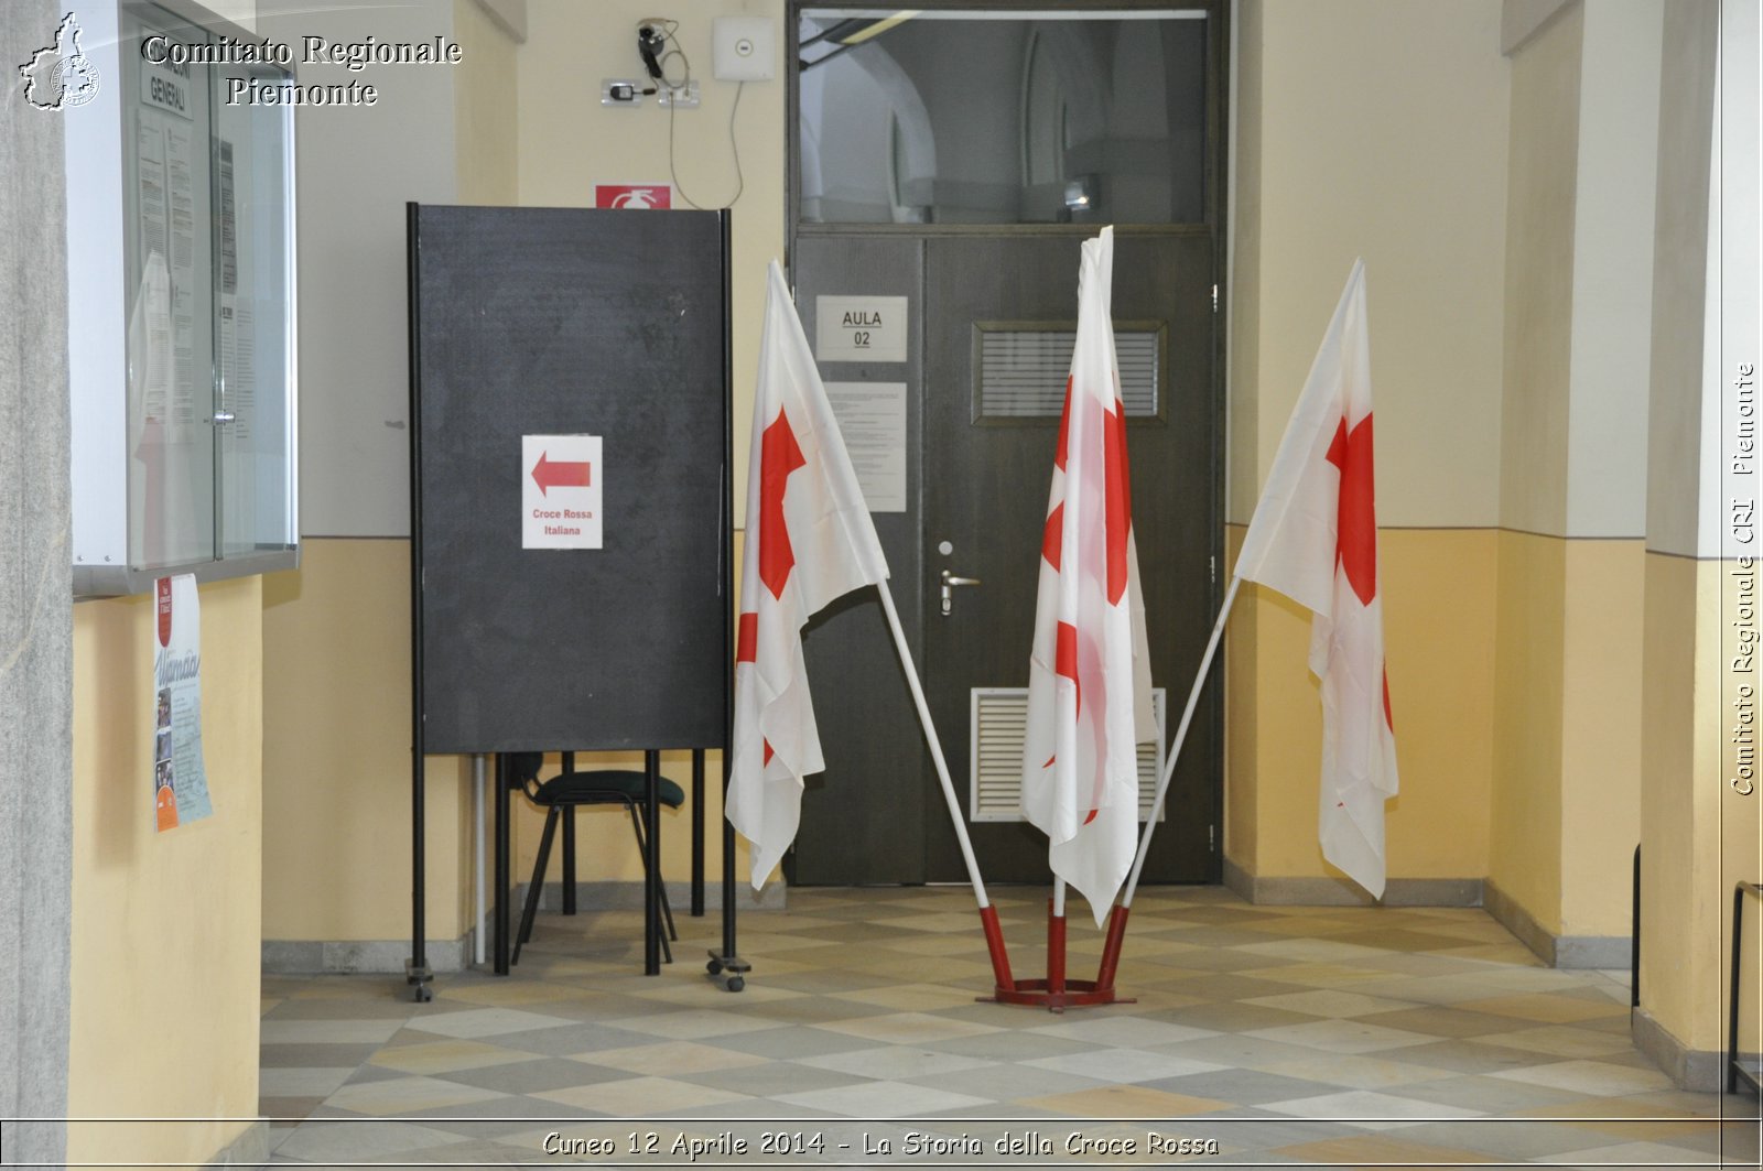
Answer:
[[[1045, 838], [996, 794], [971, 820], [975, 735], [1008, 741], [1028, 684], [1040, 534], [1077, 312], [1081, 233], [804, 235], [797, 305], [908, 298], [906, 362], [822, 362], [829, 383], [906, 384], [906, 511], [878, 513], [896, 605], [989, 882], [1045, 882]], [[1204, 231], [1116, 233], [1112, 310], [1127, 367], [1134, 526], [1153, 684], [1172, 734], [1216, 612], [1213, 254]], [[941, 575], [978, 578], [950, 589]], [[807, 668], [827, 771], [809, 778], [797, 884], [961, 882], [947, 802], [871, 591], [809, 624]], [[986, 702], [977, 704], [975, 695]], [[994, 716], [1003, 695], [1005, 721]], [[1197, 712], [1149, 882], [1213, 875], [1220, 776], [1215, 697]], [[977, 714], [977, 712], [984, 714]], [[978, 725], [977, 725], [978, 721]], [[1017, 732], [1019, 737], [1019, 732]], [[1019, 744], [1019, 739], [1015, 741]], [[1005, 750], [1008, 755], [1008, 748]]]

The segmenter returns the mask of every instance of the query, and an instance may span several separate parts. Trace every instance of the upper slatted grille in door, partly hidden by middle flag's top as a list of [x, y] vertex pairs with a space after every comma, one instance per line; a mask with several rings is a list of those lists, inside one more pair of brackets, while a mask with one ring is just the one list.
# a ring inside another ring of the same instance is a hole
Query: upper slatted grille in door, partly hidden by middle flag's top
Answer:
[[[1160, 330], [1116, 330], [1127, 418], [1158, 414]], [[1075, 330], [980, 330], [978, 420], [1056, 420], [1065, 413]]]

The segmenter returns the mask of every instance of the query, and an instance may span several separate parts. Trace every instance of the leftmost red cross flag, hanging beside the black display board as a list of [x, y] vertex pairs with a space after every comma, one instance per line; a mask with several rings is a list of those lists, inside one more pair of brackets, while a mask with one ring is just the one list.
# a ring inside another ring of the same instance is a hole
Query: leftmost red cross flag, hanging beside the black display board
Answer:
[[795, 841], [802, 778], [825, 769], [802, 626], [834, 598], [887, 578], [869, 508], [772, 261], [753, 395], [748, 531], [735, 647], [728, 822], [753, 843], [753, 889]]

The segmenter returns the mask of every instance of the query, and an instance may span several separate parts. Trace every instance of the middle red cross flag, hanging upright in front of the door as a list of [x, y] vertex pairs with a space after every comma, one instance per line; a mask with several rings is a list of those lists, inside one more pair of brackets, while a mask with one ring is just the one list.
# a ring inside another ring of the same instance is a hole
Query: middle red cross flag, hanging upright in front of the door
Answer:
[[1139, 741], [1157, 735], [1127, 476], [1127, 411], [1109, 321], [1114, 229], [1086, 240], [1077, 346], [1040, 543], [1028, 665], [1023, 815], [1047, 834], [1053, 873], [1097, 926], [1132, 866]]

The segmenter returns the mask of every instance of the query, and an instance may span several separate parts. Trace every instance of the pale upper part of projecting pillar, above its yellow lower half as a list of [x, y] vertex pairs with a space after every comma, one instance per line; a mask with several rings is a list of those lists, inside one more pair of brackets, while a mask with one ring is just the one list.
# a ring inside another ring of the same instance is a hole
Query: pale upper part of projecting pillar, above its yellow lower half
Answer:
[[1664, 4], [1506, 11], [1529, 32], [1511, 48], [1500, 524], [1638, 538]]

